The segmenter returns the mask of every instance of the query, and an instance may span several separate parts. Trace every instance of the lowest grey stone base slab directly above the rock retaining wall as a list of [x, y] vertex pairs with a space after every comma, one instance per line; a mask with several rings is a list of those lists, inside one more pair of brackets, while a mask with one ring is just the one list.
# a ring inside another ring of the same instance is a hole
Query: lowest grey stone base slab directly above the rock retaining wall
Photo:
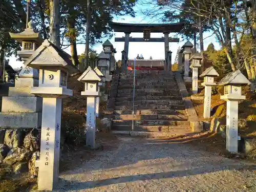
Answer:
[[1, 128], [39, 128], [41, 127], [41, 113], [0, 113]]

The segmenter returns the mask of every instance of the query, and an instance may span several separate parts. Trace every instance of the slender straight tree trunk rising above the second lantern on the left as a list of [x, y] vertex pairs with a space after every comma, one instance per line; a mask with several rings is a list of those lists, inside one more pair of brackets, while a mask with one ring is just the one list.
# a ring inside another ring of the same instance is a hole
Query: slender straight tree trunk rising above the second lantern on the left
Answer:
[[89, 44], [90, 44], [90, 29], [91, 29], [91, 8], [90, 0], [87, 0], [87, 16], [86, 16], [86, 52], [84, 56], [86, 57], [86, 68], [89, 67]]

